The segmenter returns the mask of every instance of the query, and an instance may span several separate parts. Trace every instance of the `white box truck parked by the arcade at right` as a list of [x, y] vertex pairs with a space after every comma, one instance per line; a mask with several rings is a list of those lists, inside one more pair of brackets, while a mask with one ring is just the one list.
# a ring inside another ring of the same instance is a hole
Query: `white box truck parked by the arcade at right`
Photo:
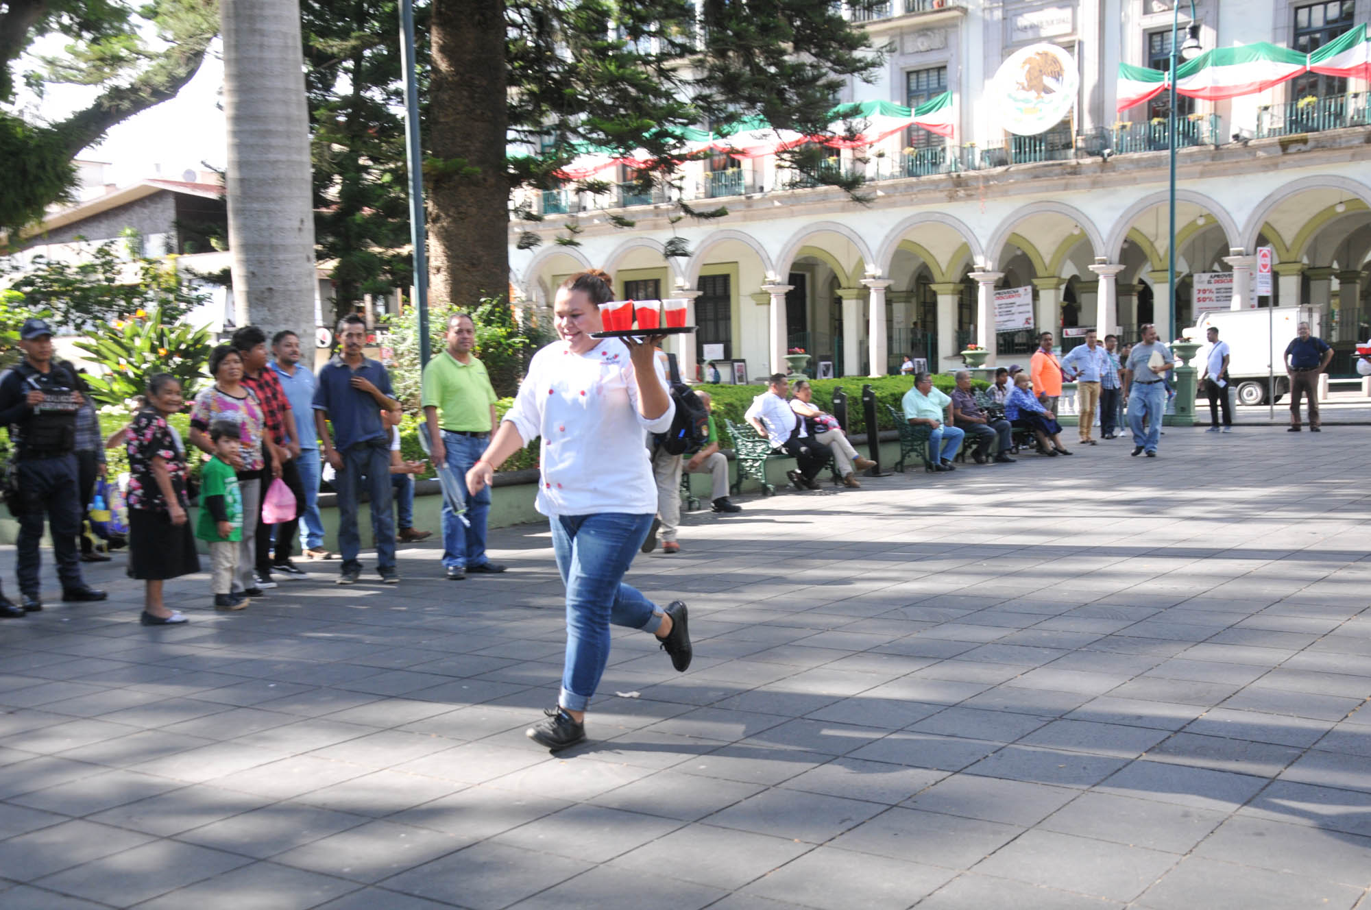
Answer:
[[[1228, 343], [1228, 378], [1238, 386], [1238, 404], [1265, 404], [1272, 377], [1276, 402], [1290, 391], [1285, 349], [1301, 322], [1308, 322], [1309, 330], [1319, 334], [1319, 312], [1313, 307], [1212, 310], [1200, 314], [1194, 328], [1182, 334], [1204, 344], [1206, 329], [1219, 329], [1219, 340]], [[1193, 366], [1200, 367], [1206, 355], [1208, 347], [1201, 348]]]

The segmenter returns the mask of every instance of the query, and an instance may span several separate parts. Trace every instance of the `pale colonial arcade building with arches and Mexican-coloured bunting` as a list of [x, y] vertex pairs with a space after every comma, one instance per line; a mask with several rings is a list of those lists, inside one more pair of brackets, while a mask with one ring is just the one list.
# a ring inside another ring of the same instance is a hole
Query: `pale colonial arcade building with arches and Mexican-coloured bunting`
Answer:
[[[698, 332], [672, 339], [686, 363], [742, 362], [751, 378], [784, 369], [792, 348], [812, 367], [868, 376], [902, 354], [950, 369], [968, 343], [1008, 363], [1036, 329], [1132, 340], [1156, 322], [1175, 337], [1193, 323], [1197, 288], [1231, 286], [1234, 307], [1315, 307], [1337, 341], [1334, 373], [1350, 373], [1353, 341], [1371, 334], [1371, 0], [1196, 1], [1205, 53], [1176, 79], [1178, 325], [1160, 90], [1172, 3], [891, 0], [864, 14], [872, 42], [893, 48], [880, 79], [840, 99], [865, 103], [843, 108], [862, 116], [860, 140], [827, 159], [865, 177], [868, 203], [779, 167], [762, 129], [690, 137], [706, 153], [691, 156], [681, 190], [642, 193], [631, 160], [588, 160], [584, 173], [616, 192], [569, 181], [515, 200], [544, 215], [513, 225], [515, 295], [547, 307], [565, 275], [603, 267], [624, 297], [691, 300]], [[1189, 0], [1179, 19], [1185, 37]], [[1002, 63], [1035, 45], [1064, 52], [1065, 71], [1019, 66], [1006, 82]], [[1068, 93], [1069, 110], [1036, 134], [1006, 132], [1006, 95], [1035, 79]], [[672, 225], [675, 192], [728, 215]], [[568, 223], [580, 245], [554, 243]], [[517, 248], [526, 229], [544, 243]], [[688, 255], [668, 255], [681, 241]], [[1261, 297], [1259, 247], [1272, 248], [1275, 273]], [[997, 325], [995, 292], [1009, 289], [1024, 311], [1031, 297], [1031, 329]]]

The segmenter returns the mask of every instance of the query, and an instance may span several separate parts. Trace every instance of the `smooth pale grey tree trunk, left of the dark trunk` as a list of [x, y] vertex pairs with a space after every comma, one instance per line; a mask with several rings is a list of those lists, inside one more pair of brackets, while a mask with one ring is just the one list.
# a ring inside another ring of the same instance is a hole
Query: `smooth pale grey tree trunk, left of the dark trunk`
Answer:
[[313, 339], [314, 210], [298, 0], [222, 0], [237, 323]]

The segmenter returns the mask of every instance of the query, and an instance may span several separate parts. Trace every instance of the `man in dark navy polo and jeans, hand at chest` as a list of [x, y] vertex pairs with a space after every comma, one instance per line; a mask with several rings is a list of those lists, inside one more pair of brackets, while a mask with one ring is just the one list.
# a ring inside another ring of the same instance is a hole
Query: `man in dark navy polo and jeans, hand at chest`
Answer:
[[[391, 376], [378, 362], [362, 354], [366, 322], [356, 314], [339, 321], [341, 354], [319, 367], [314, 391], [314, 423], [324, 443], [324, 458], [336, 471], [339, 495], [339, 550], [343, 567], [340, 585], [356, 584], [362, 574], [358, 552], [362, 534], [356, 510], [363, 477], [372, 497], [372, 536], [376, 541], [376, 569], [385, 584], [398, 584], [395, 570], [395, 515], [391, 503], [391, 434], [381, 411], [400, 410], [391, 392]], [[329, 423], [333, 436], [329, 436]]]

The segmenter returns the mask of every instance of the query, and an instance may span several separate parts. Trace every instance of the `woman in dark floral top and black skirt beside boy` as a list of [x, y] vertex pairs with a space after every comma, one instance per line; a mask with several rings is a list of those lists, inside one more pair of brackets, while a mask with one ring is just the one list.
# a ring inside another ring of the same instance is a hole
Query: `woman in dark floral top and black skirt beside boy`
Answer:
[[186, 521], [185, 443], [167, 421], [181, 411], [181, 382], [159, 373], [148, 380], [148, 404], [126, 434], [129, 452], [129, 576], [147, 581], [143, 625], [177, 625], [185, 617], [162, 602], [162, 582], [200, 571]]

